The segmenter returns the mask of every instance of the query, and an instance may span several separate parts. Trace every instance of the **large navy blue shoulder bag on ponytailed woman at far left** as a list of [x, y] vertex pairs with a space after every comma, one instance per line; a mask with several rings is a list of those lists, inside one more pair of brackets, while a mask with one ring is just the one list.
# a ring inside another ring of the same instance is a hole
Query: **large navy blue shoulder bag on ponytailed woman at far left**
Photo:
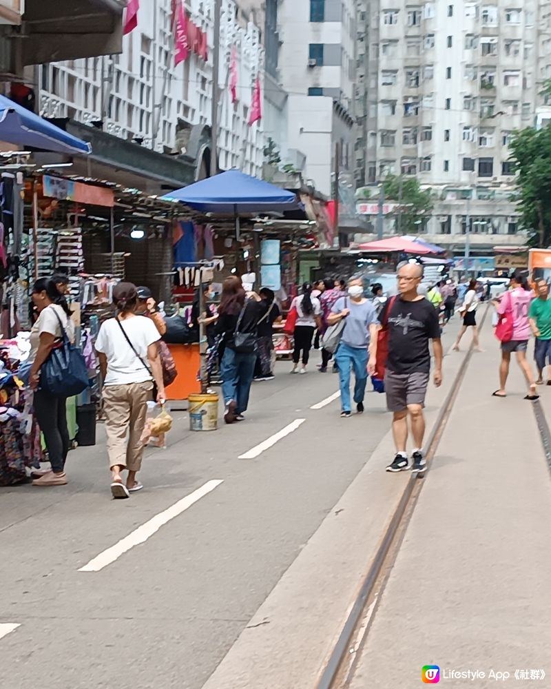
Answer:
[[88, 387], [88, 369], [83, 353], [70, 342], [61, 318], [62, 341], [54, 347], [40, 369], [40, 389], [55, 397], [74, 397]]

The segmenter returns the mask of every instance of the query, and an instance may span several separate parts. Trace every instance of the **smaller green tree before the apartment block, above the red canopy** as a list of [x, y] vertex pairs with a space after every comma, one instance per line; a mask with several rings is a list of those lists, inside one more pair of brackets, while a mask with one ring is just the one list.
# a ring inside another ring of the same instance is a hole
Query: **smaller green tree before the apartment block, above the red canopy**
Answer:
[[433, 209], [430, 189], [423, 191], [415, 177], [388, 175], [383, 183], [384, 198], [397, 201], [392, 212], [396, 232], [417, 234]]

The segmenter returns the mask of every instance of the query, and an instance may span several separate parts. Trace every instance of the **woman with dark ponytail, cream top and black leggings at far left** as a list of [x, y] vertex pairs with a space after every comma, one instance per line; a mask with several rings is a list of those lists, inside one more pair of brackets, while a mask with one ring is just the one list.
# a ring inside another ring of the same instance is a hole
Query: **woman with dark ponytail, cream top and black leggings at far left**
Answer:
[[67, 398], [57, 397], [39, 389], [39, 383], [42, 364], [50, 356], [56, 342], [63, 338], [62, 328], [73, 342], [74, 325], [65, 297], [59, 294], [53, 280], [41, 278], [34, 283], [32, 302], [37, 307], [39, 317], [30, 331], [29, 384], [34, 390], [34, 415], [44, 435], [52, 465], [51, 471], [35, 479], [32, 484], [34, 486], [65, 486], [67, 483], [65, 460], [70, 446], [65, 411]]

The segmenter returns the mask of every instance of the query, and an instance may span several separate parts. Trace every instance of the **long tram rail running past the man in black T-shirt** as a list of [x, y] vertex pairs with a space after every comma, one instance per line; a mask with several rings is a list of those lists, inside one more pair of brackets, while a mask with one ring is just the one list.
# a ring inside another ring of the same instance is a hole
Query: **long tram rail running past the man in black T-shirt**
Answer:
[[[486, 311], [484, 311], [480, 329], [484, 327], [488, 309], [489, 307], [486, 307]], [[351, 606], [349, 615], [337, 638], [331, 655], [322, 670], [322, 675], [316, 689], [345, 689], [346, 686], [349, 686], [349, 682], [355, 672], [357, 659], [366, 642], [373, 619], [377, 614], [377, 607], [380, 603], [388, 576], [391, 573], [400, 545], [404, 539], [408, 523], [415, 509], [415, 504], [422, 491], [424, 483], [422, 479], [426, 476], [426, 473], [430, 471], [430, 466], [433, 462], [442, 434], [446, 429], [446, 424], [455, 400], [457, 399], [457, 395], [459, 394], [459, 389], [464, 380], [473, 350], [474, 346], [471, 344], [464, 360], [461, 362], [459, 371], [457, 371], [453, 385], [446, 396], [446, 400], [441, 407], [433, 429], [430, 431], [424, 449], [427, 469], [422, 475], [410, 474], [402, 498], [388, 523], [386, 531], [382, 535], [373, 562], [364, 577], [357, 597]], [[551, 433], [545, 416], [543, 415], [543, 409], [541, 409], [539, 404], [538, 407], [541, 412], [541, 419], [538, 422], [538, 426], [540, 428], [540, 433], [543, 433], [541, 430], [542, 428], [545, 429], [547, 433], [545, 436], [547, 445], [544, 444], [544, 449], [551, 470]], [[535, 407], [534, 413], [537, 414], [537, 409]]]

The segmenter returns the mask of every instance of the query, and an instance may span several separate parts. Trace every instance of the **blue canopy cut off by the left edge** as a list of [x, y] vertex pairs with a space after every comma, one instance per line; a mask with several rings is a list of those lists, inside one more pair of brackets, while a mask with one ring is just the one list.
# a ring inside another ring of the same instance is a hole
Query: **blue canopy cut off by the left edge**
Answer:
[[0, 141], [25, 148], [66, 154], [87, 154], [90, 144], [67, 134], [26, 107], [0, 95]]

